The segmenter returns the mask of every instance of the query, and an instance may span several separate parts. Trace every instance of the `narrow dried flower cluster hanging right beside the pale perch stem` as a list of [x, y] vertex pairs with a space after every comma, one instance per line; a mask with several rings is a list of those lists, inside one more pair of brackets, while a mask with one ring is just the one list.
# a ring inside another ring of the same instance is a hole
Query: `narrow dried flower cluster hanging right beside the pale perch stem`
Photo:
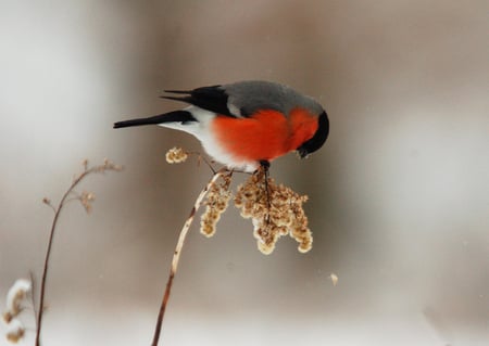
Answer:
[[205, 212], [200, 219], [200, 232], [205, 236], [212, 236], [215, 233], [215, 226], [221, 219], [221, 215], [226, 212], [231, 198], [229, 185], [231, 174], [222, 175], [218, 182], [211, 185], [205, 200]]

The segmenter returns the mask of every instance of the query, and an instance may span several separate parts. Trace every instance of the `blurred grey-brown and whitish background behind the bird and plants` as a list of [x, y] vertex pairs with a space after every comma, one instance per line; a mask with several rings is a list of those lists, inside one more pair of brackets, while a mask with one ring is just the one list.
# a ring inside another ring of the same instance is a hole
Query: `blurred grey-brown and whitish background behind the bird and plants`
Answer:
[[93, 212], [60, 219], [43, 341], [149, 345], [210, 172], [165, 163], [200, 150], [188, 134], [112, 123], [179, 107], [165, 88], [268, 79], [330, 117], [321, 151], [272, 167], [310, 196], [313, 249], [262, 255], [235, 208], [192, 228], [162, 345], [489, 345], [488, 20], [487, 1], [2, 0], [0, 308], [41, 270], [41, 198], [109, 157], [125, 170], [79, 189]]

